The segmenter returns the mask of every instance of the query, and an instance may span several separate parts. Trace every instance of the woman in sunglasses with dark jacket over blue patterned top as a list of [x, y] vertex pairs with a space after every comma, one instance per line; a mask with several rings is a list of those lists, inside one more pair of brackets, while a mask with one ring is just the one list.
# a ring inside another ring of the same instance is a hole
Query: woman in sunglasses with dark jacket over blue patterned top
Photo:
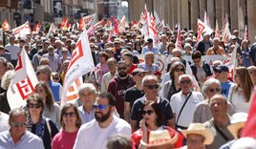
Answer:
[[49, 118], [43, 117], [44, 102], [42, 96], [34, 94], [27, 98], [28, 131], [43, 139], [46, 149], [51, 149], [53, 137], [58, 133], [58, 129]]

